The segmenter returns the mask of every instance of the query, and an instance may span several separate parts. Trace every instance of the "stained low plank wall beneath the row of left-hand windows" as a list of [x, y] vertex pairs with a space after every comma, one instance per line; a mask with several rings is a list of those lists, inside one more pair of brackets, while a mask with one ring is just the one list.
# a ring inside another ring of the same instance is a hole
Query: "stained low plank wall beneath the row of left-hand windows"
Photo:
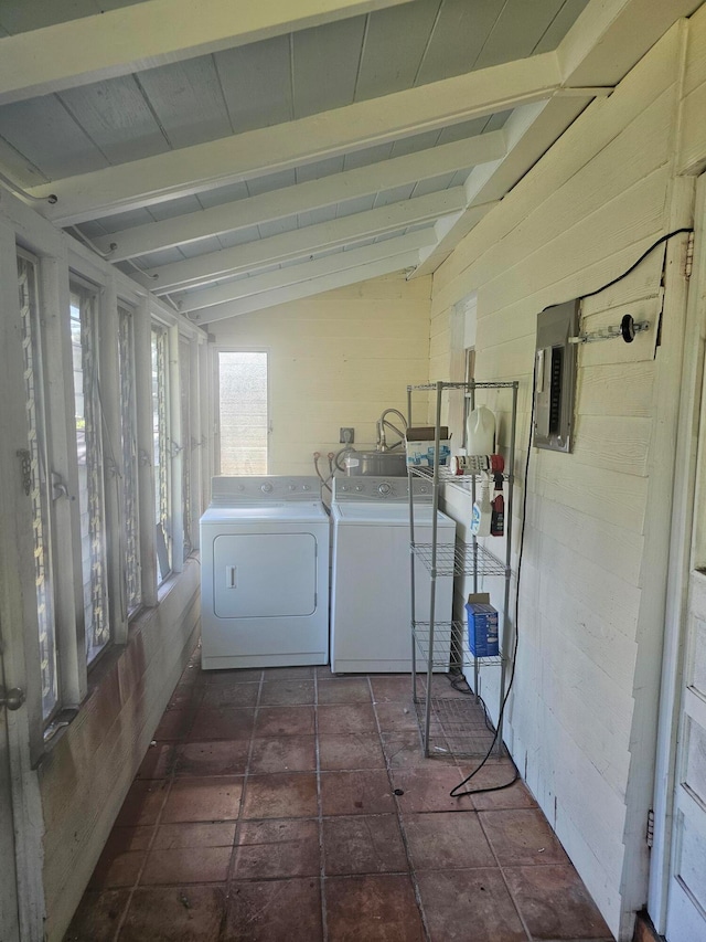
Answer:
[[201, 569], [191, 560], [40, 768], [47, 942], [60, 942], [199, 635]]

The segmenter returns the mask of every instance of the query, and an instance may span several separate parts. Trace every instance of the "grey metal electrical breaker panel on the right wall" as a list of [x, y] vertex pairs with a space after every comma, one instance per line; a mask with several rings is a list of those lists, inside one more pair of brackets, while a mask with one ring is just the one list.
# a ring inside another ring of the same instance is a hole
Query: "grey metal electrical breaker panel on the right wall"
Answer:
[[537, 315], [534, 444], [571, 451], [576, 389], [576, 338], [579, 301], [545, 308]]

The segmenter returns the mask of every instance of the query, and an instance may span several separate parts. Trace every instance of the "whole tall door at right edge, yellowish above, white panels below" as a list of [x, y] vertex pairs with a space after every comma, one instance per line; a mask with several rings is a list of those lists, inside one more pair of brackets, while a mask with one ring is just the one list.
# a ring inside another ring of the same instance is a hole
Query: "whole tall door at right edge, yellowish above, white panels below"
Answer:
[[702, 177], [685, 328], [650, 874], [649, 911], [668, 942], [706, 942], [705, 224]]

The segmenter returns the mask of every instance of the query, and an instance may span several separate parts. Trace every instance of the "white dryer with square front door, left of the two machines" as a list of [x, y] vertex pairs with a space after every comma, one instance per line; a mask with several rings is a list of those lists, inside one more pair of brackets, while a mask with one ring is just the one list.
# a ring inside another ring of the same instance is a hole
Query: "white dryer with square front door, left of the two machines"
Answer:
[[201, 518], [201, 663], [329, 661], [330, 520], [317, 477], [214, 477]]

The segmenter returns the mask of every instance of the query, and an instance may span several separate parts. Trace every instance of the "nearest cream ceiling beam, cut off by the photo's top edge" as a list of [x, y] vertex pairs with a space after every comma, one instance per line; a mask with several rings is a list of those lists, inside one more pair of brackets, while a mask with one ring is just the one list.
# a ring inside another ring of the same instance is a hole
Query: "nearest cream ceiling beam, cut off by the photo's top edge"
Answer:
[[410, 0], [146, 0], [0, 39], [0, 105]]

